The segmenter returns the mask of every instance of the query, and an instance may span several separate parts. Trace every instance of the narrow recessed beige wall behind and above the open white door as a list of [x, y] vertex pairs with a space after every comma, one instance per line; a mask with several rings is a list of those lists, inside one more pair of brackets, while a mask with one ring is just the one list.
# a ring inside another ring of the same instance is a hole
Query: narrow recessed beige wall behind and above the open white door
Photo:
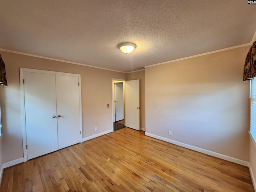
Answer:
[[140, 128], [145, 126], [145, 71], [128, 73], [126, 80], [140, 80]]

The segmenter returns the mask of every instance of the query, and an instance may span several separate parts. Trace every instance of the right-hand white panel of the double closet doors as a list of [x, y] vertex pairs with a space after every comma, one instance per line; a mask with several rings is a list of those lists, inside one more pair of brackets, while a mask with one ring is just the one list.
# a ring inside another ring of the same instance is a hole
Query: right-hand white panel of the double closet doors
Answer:
[[78, 82], [78, 77], [56, 75], [59, 149], [80, 142]]

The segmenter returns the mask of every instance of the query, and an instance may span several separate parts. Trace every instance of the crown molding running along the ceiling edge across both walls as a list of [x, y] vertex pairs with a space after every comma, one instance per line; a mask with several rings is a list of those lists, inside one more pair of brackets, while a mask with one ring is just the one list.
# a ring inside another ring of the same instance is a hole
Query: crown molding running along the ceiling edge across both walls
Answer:
[[[254, 33], [254, 36], [252, 37], [251, 42], [246, 43], [246, 44], [233, 46], [233, 47], [229, 47], [229, 48], [224, 48], [224, 49], [211, 51], [211, 52], [207, 52], [207, 53], [202, 53], [202, 54], [198, 54], [198, 55], [194, 55], [194, 56], [184, 57], [184, 58], [180, 58], [180, 59], [176, 59], [176, 60], [166, 61], [166, 62], [162, 62], [162, 63], [152, 64], [152, 65], [144, 66], [144, 68], [157, 66], [157, 65], [162, 65], [162, 64], [171, 63], [171, 62], [176, 62], [176, 61], [185, 60], [185, 59], [189, 59], [189, 58], [199, 57], [199, 56], [208, 55], [208, 54], [212, 54], [212, 53], [222, 52], [222, 51], [231, 50], [231, 49], [235, 49], [235, 48], [240, 48], [240, 47], [244, 47], [244, 46], [249, 46], [249, 45], [252, 45], [252, 43], [254, 41], [256, 41], [256, 31]], [[64, 62], [64, 63], [82, 65], [82, 66], [87, 66], [87, 67], [93, 67], [93, 68], [98, 68], [98, 69], [103, 69], [103, 70], [114, 71], [114, 72], [126, 73], [126, 74], [145, 70], [145, 69], [141, 69], [141, 70], [136, 70], [136, 71], [123, 72], [123, 71], [112, 70], [112, 69], [107, 69], [107, 68], [102, 68], [102, 67], [97, 67], [97, 66], [92, 66], [92, 65], [86, 65], [86, 64], [82, 64], [82, 63], [76, 63], [76, 62], [54, 59], [54, 58], [49, 58], [49, 57], [44, 57], [44, 56], [39, 56], [39, 55], [33, 55], [33, 54], [28, 54], [28, 53], [23, 53], [23, 52], [18, 52], [18, 51], [12, 51], [12, 50], [2, 49], [2, 48], [0, 48], [0, 51], [16, 53], [16, 54], [21, 54], [21, 55], [26, 55], [26, 56], [32, 56], [32, 57], [37, 57], [37, 58], [42, 58], [42, 59], [54, 60], [54, 61], [59, 61], [59, 62]]]

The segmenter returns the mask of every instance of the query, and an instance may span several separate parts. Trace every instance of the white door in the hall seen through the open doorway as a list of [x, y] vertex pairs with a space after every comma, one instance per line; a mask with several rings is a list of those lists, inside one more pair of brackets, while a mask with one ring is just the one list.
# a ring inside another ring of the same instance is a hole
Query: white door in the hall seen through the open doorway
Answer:
[[116, 121], [124, 119], [124, 90], [123, 83], [116, 83]]

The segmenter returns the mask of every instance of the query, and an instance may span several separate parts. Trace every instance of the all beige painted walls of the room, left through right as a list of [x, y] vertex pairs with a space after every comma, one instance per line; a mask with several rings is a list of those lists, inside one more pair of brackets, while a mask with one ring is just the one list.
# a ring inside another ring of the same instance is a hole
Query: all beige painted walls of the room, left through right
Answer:
[[242, 82], [241, 73], [249, 48], [128, 74], [2, 51], [8, 86], [0, 87], [0, 166], [23, 157], [19, 67], [24, 67], [81, 74], [83, 138], [112, 129], [111, 78], [140, 79], [140, 126], [146, 132], [246, 161], [250, 149], [256, 175], [256, 149], [253, 143], [249, 148], [248, 138], [249, 83]]

